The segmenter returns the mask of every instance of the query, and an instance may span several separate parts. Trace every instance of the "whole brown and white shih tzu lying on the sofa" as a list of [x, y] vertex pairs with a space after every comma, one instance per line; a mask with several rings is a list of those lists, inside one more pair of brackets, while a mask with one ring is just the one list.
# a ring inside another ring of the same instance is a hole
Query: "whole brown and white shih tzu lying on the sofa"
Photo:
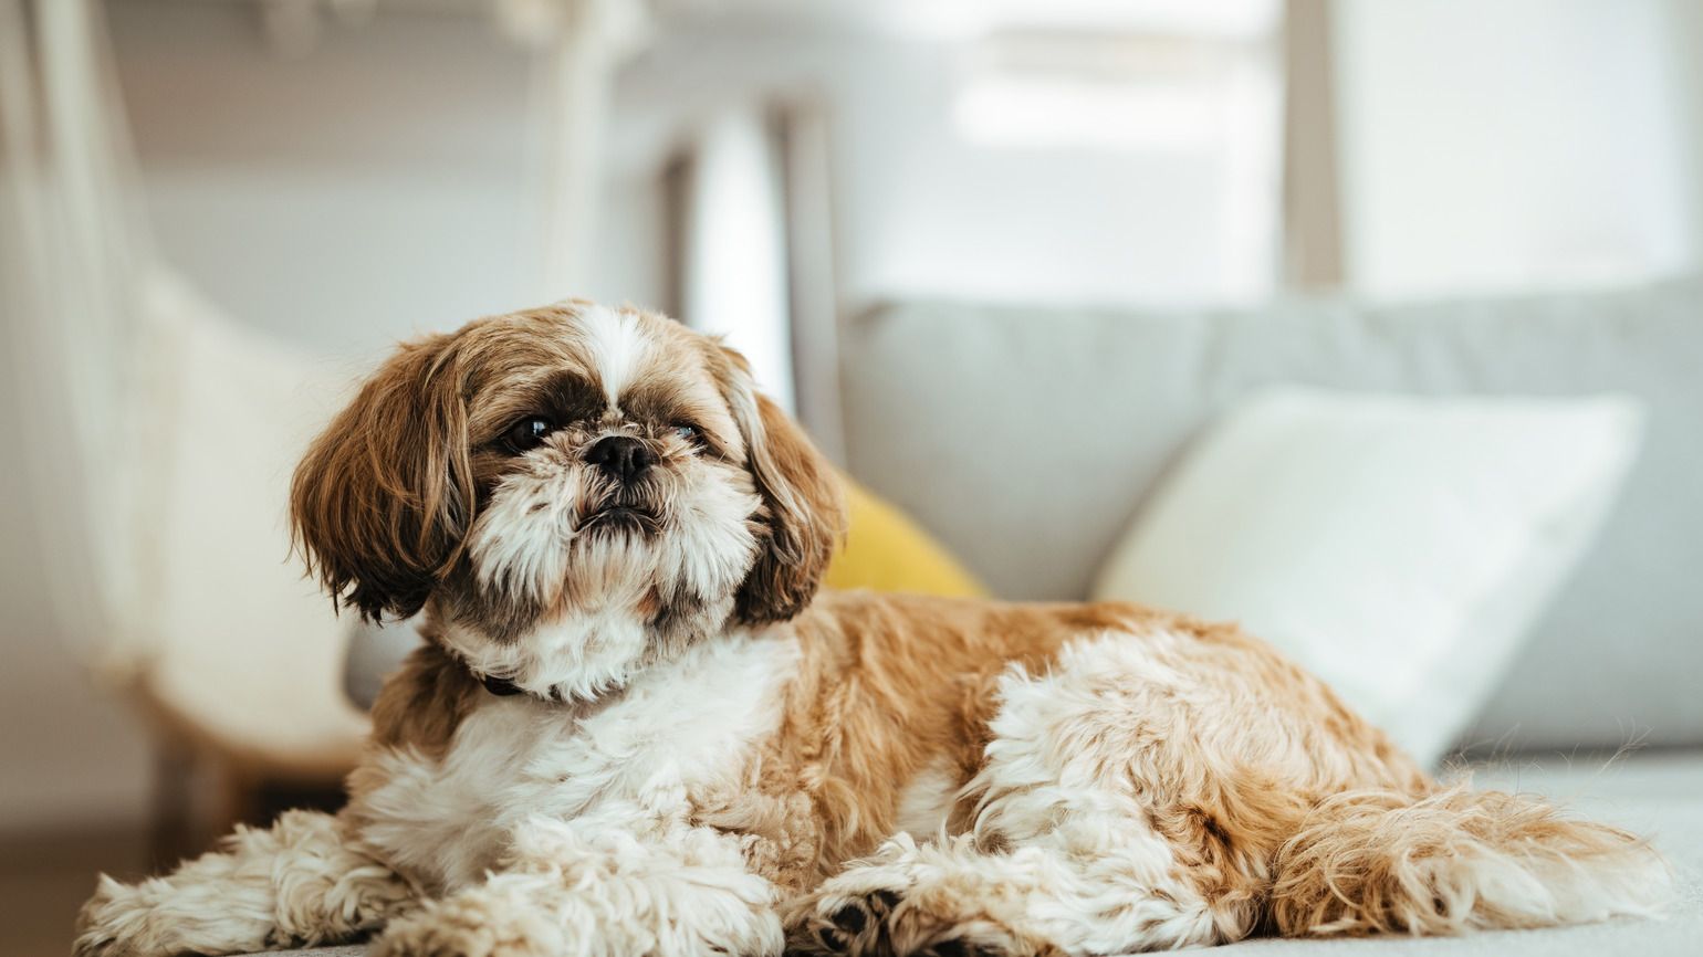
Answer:
[[291, 499], [335, 601], [424, 610], [427, 642], [341, 814], [102, 877], [78, 955], [1100, 955], [1592, 921], [1669, 885], [1633, 834], [1436, 783], [1235, 627], [819, 594], [833, 470], [657, 315], [402, 346]]

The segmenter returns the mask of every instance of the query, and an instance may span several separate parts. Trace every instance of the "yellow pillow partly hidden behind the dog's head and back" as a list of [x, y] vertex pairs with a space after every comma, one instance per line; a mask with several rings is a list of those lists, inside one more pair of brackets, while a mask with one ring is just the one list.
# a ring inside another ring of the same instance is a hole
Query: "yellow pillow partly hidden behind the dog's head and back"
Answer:
[[857, 482], [845, 477], [841, 480], [852, 521], [845, 545], [829, 562], [823, 584], [840, 589], [988, 598], [988, 589], [976, 581], [976, 576], [908, 514], [877, 499]]

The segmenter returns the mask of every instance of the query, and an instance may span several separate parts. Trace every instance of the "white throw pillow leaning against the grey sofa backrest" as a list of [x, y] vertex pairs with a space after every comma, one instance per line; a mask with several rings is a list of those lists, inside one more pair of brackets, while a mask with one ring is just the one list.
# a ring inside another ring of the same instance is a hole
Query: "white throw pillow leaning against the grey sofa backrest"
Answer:
[[1434, 765], [1596, 535], [1642, 417], [1623, 397], [1270, 392], [1160, 484], [1095, 598], [1238, 620]]

